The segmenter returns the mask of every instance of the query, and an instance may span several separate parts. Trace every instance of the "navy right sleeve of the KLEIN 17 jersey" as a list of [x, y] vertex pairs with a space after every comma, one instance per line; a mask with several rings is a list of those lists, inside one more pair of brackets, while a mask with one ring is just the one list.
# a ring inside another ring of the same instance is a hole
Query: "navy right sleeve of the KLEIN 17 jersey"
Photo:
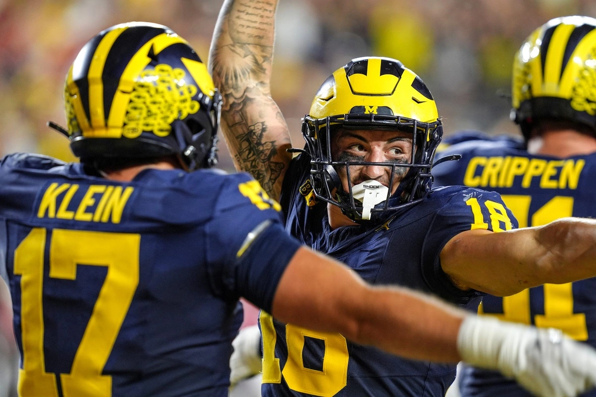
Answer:
[[271, 310], [285, 267], [300, 247], [283, 229], [280, 210], [252, 177], [229, 176], [206, 226], [207, 262], [217, 295], [243, 296]]

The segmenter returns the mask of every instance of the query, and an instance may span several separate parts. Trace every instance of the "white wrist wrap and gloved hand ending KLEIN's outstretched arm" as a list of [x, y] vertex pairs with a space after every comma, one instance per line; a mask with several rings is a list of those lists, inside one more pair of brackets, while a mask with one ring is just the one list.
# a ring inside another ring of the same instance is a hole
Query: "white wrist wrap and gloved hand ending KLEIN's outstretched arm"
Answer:
[[468, 364], [499, 370], [537, 396], [573, 397], [596, 386], [596, 351], [559, 330], [471, 316], [458, 349]]

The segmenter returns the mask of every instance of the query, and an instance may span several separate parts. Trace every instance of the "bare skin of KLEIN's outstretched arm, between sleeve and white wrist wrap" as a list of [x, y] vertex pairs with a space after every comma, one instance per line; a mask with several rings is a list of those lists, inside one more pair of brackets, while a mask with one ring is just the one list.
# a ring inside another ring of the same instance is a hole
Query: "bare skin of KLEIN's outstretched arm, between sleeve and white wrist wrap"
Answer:
[[461, 359], [455, 340], [464, 311], [413, 291], [368, 286], [348, 267], [306, 247], [286, 268], [271, 314], [417, 360]]

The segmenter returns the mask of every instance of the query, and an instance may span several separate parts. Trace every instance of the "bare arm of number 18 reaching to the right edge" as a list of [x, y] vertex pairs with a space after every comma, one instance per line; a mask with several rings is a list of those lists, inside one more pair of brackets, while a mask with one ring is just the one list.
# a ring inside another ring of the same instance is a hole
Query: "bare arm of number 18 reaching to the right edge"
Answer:
[[563, 218], [502, 233], [469, 230], [445, 245], [440, 261], [460, 288], [499, 296], [596, 277], [596, 220]]

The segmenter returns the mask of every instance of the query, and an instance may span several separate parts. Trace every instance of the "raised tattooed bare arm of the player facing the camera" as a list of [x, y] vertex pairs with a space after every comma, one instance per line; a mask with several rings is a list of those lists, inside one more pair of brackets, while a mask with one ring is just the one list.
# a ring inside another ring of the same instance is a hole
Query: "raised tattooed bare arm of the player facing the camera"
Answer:
[[209, 55], [224, 96], [222, 132], [238, 170], [251, 173], [272, 198], [291, 160], [290, 134], [271, 98], [277, 0], [225, 0]]

